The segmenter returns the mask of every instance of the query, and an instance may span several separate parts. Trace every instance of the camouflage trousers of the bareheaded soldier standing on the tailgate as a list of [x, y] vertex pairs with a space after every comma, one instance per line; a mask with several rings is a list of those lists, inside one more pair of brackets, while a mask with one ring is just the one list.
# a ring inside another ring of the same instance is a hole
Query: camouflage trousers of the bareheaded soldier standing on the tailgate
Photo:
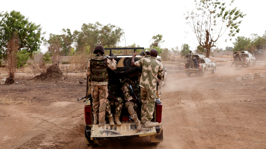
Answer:
[[153, 118], [156, 91], [140, 87], [140, 98], [142, 101], [141, 120], [150, 121]]

